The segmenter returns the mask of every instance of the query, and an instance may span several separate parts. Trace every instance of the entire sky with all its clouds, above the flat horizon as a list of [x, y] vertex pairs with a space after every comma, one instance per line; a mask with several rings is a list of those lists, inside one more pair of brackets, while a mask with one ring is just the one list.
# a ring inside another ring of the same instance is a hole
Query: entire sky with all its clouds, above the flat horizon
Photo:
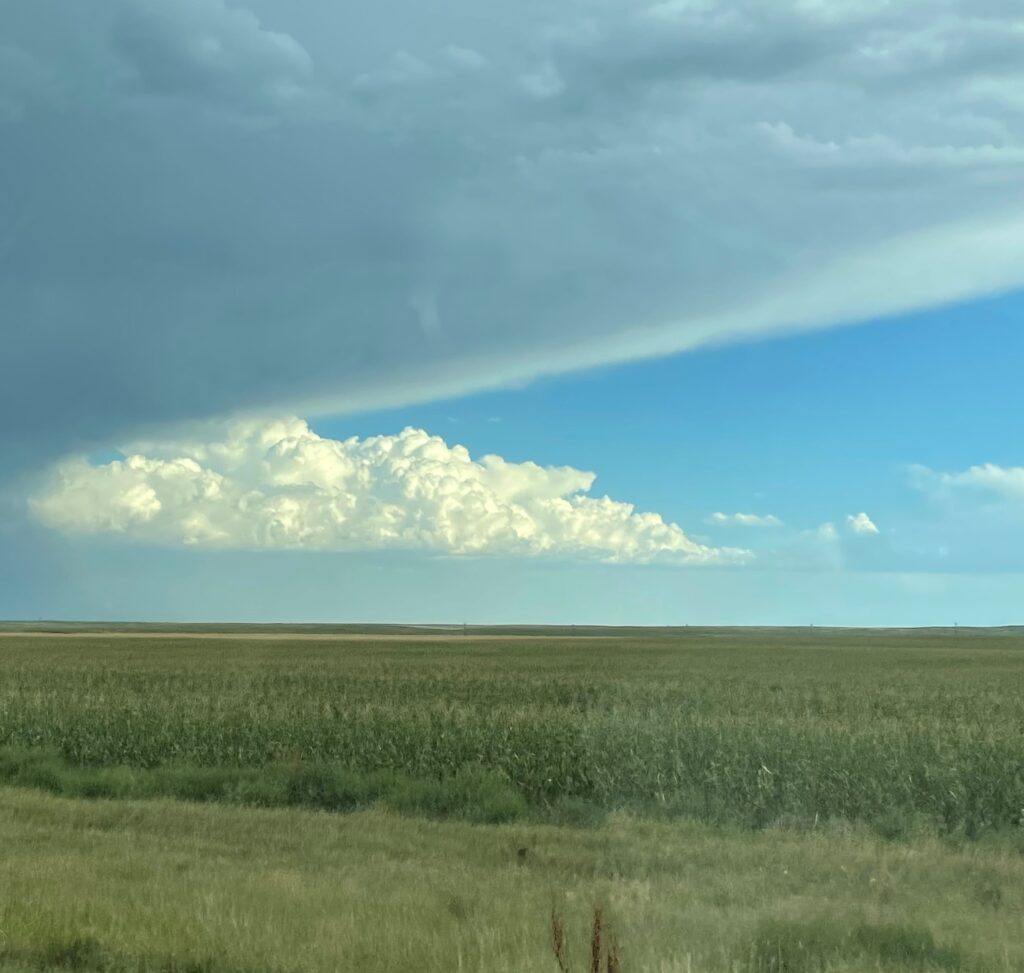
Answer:
[[1021, 622], [1017, 4], [0, 27], [0, 618]]

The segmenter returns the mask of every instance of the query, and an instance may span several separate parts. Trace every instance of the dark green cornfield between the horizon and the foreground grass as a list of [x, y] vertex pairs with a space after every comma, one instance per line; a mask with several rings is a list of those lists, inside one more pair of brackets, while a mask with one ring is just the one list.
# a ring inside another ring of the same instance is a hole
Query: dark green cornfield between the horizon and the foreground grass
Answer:
[[971, 838], [1020, 827], [1022, 726], [1015, 632], [0, 638], [0, 747], [73, 795]]

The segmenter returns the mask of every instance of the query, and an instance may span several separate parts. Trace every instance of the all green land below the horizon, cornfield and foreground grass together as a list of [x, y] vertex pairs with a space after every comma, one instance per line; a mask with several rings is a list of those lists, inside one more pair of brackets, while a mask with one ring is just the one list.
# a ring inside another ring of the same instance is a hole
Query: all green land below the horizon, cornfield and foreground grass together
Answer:
[[8, 627], [0, 782], [0, 969], [1024, 969], [1013, 630]]

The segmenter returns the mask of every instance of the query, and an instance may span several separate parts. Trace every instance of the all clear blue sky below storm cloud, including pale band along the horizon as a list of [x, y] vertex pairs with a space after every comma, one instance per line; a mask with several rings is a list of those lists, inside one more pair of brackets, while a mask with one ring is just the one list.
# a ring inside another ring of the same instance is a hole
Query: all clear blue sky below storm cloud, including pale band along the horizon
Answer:
[[[936, 507], [910, 467], [1013, 466], [1007, 430], [1024, 406], [1022, 308], [1021, 295], [1007, 295], [310, 423], [336, 439], [415, 426], [477, 457], [595, 470], [594, 493], [658, 511], [710, 544], [750, 544], [765, 552], [763, 564], [211, 552], [32, 528], [31, 563], [5, 585], [8, 610], [182, 621], [1012, 624], [1024, 564], [1011, 539], [1024, 539], [1024, 517], [1011, 512], [993, 531], [976, 510]], [[842, 563], [823, 563], [813, 550], [805, 562], [800, 553], [774, 562], [770, 552], [786, 538], [792, 545], [793, 535], [860, 510], [880, 534], [845, 538]], [[785, 526], [709, 524], [715, 511], [773, 514]]]

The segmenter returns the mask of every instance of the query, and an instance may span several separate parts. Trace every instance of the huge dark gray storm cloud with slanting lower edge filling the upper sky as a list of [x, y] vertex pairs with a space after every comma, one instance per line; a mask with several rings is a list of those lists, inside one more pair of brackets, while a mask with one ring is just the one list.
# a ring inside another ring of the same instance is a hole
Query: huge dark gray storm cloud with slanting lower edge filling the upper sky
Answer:
[[8, 0], [0, 464], [1024, 284], [1024, 15]]

